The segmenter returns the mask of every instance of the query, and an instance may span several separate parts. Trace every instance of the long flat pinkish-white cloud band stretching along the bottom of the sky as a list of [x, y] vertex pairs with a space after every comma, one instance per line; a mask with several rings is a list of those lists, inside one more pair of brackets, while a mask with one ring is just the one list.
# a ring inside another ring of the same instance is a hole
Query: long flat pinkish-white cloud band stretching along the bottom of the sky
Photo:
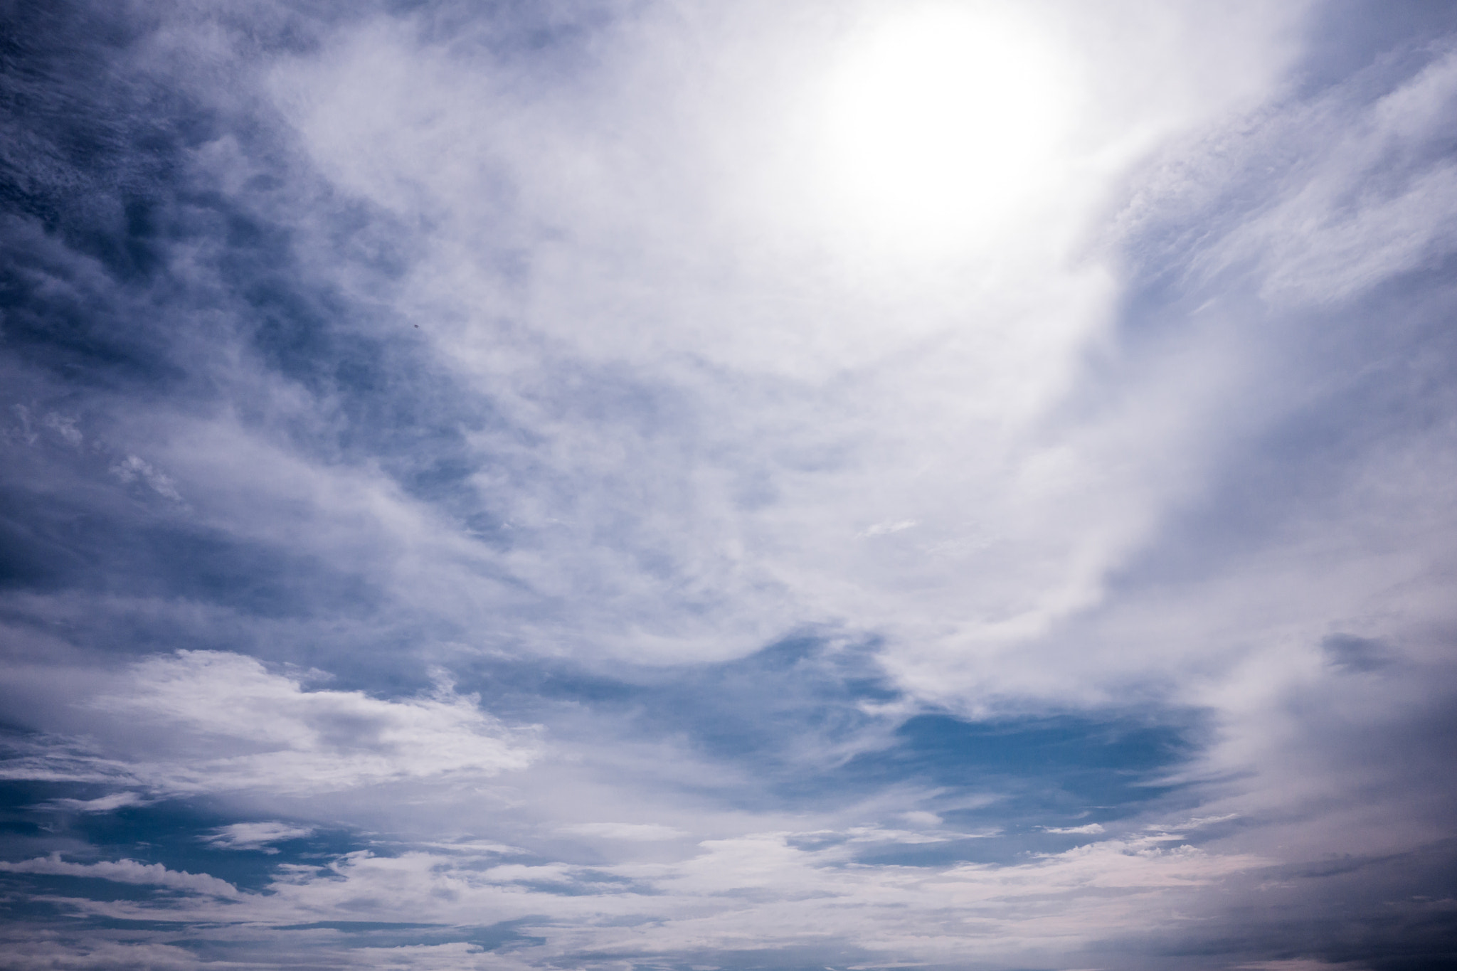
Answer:
[[[246, 908], [265, 922], [297, 913], [447, 923], [482, 913], [539, 916], [525, 930], [546, 945], [520, 951], [529, 962], [577, 949], [664, 954], [830, 940], [900, 961], [997, 959], [1068, 954], [1109, 927], [1187, 914], [1201, 905], [1201, 888], [1268, 862], [1110, 840], [1007, 866], [855, 866], [847, 865], [848, 843], [803, 850], [790, 844], [798, 836], [819, 834], [745, 834], [705, 841], [678, 862], [592, 868], [482, 869], [434, 853], [353, 853], [281, 876]], [[648, 911], [650, 922], [624, 920]], [[967, 936], [970, 927], [976, 933]]]

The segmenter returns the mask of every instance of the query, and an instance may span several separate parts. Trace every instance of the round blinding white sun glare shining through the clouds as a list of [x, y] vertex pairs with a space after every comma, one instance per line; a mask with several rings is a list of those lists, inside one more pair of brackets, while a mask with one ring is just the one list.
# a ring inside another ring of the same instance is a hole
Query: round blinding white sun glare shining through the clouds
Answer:
[[820, 189], [898, 245], [986, 240], [1048, 185], [1071, 109], [1030, 25], [934, 6], [851, 41], [830, 74]]

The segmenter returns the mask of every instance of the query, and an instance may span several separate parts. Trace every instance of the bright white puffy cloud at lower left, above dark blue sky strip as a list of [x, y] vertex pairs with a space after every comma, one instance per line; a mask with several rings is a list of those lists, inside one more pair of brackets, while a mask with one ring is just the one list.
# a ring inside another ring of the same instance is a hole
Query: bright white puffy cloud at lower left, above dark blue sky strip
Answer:
[[[105, 719], [112, 751], [134, 754], [71, 754], [64, 761], [50, 757], [61, 756], [61, 745], [42, 744], [29, 769], [12, 767], [13, 777], [109, 777], [170, 795], [302, 795], [407, 779], [482, 779], [525, 769], [536, 751], [529, 732], [507, 729], [478, 699], [449, 686], [398, 702], [306, 691], [254, 658], [217, 651], [138, 661], [87, 708]], [[118, 793], [87, 805], [101, 811], [136, 799]]]

